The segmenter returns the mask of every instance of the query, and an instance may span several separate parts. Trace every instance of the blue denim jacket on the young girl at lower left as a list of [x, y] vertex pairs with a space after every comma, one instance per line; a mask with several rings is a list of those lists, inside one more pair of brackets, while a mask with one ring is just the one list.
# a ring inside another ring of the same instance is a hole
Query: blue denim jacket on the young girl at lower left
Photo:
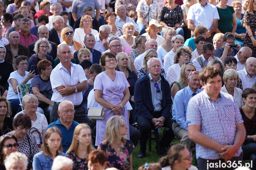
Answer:
[[[65, 153], [58, 151], [58, 155], [66, 156]], [[53, 159], [50, 156], [44, 156], [43, 151], [36, 153], [33, 158], [33, 170], [51, 170]]]

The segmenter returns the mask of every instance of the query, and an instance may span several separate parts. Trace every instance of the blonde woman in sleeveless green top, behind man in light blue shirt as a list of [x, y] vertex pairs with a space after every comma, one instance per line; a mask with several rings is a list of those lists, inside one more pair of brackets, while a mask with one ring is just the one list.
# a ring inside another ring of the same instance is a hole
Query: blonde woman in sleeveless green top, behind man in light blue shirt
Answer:
[[[189, 74], [194, 71], [196, 71], [194, 64], [188, 62], [187, 64], [184, 63], [182, 65], [182, 67], [180, 69], [179, 79], [170, 84], [170, 91], [171, 91], [172, 98], [174, 98], [174, 96], [176, 95], [176, 93], [179, 90], [188, 86], [187, 78], [188, 78]], [[195, 73], [193, 73], [193, 74], [195, 74]], [[199, 72], [197, 72], [197, 73], [199, 73]]]

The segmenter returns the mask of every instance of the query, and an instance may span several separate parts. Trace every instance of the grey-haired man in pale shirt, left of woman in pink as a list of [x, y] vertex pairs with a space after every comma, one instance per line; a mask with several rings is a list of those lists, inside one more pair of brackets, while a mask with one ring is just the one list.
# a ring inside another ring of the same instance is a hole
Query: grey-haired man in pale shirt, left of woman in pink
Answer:
[[100, 32], [95, 37], [94, 49], [101, 53], [109, 49], [109, 34], [112, 30], [111, 25], [101, 25], [99, 28]]

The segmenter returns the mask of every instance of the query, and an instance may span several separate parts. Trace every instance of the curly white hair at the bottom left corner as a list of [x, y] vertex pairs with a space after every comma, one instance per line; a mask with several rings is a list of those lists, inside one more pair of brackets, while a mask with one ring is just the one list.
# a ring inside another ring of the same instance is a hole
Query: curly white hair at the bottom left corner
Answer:
[[28, 158], [25, 154], [20, 152], [10, 153], [9, 156], [4, 160], [4, 166], [7, 170], [11, 169], [14, 163], [24, 163], [24, 167], [28, 166]]

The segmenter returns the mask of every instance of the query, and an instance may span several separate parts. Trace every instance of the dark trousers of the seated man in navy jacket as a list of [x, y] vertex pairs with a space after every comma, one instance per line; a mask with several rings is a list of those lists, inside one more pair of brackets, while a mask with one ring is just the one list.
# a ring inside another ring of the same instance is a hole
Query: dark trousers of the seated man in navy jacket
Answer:
[[[161, 117], [161, 113], [155, 114], [153, 115], [153, 117], [159, 118]], [[139, 131], [140, 131], [140, 139], [139, 139], [140, 150], [143, 153], [146, 153], [148, 135], [151, 132], [151, 129], [155, 127], [155, 125], [151, 123], [151, 120], [149, 120], [147, 117], [144, 117], [142, 115], [139, 115], [137, 117], [137, 123], [139, 125]], [[160, 140], [160, 145], [166, 148], [170, 145], [171, 141], [175, 137], [171, 128], [172, 123], [173, 123], [172, 115], [170, 115], [168, 119], [164, 121], [164, 124], [163, 124], [163, 127], [168, 127], [169, 130], [163, 135], [162, 139]]]

